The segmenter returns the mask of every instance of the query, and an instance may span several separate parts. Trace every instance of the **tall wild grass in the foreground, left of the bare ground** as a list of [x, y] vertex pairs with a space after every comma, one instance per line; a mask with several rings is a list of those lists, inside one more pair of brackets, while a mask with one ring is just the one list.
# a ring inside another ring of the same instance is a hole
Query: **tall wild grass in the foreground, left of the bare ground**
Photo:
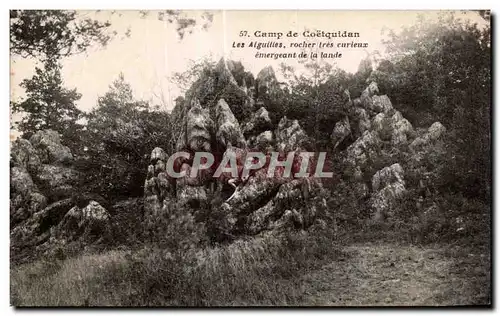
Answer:
[[[174, 231], [175, 232], [175, 231]], [[321, 234], [290, 233], [203, 249], [144, 246], [16, 268], [16, 306], [241, 306], [301, 304], [300, 277], [345, 260]]]

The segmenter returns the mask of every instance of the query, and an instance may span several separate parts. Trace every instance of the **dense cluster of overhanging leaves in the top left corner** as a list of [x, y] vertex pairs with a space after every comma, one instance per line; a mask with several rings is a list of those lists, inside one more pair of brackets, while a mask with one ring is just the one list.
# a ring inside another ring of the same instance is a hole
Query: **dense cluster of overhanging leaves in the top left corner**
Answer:
[[58, 59], [106, 45], [110, 23], [78, 18], [77, 11], [11, 10], [10, 51], [22, 57]]

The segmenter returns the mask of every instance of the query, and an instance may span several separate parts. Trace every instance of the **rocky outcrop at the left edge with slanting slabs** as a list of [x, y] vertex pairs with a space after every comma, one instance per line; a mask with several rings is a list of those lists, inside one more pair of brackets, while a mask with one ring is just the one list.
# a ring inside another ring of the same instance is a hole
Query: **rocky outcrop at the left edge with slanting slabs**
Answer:
[[[54, 240], [57, 244], [75, 241], [80, 231], [92, 232], [99, 238], [103, 230], [96, 227], [109, 215], [103, 215], [106, 210], [95, 201], [82, 209], [77, 206], [82, 201], [75, 189], [80, 174], [72, 168], [72, 161], [69, 148], [51, 130], [39, 131], [29, 141], [18, 139], [12, 144], [10, 233], [14, 255], [50, 251], [56, 246]], [[70, 225], [70, 218], [76, 214], [78, 223]]]

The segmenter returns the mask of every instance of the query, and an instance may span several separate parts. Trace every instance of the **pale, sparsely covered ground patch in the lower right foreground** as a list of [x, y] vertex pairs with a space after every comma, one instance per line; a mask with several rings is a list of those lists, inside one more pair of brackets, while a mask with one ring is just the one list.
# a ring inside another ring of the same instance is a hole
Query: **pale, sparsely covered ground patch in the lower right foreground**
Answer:
[[[467, 256], [475, 259], [475, 255]], [[484, 264], [485, 256], [480, 257], [480, 264], [478, 260], [461, 260], [463, 271], [457, 271], [457, 260], [440, 249], [350, 246], [345, 259], [303, 277], [304, 303], [321, 306], [487, 304], [489, 270]]]

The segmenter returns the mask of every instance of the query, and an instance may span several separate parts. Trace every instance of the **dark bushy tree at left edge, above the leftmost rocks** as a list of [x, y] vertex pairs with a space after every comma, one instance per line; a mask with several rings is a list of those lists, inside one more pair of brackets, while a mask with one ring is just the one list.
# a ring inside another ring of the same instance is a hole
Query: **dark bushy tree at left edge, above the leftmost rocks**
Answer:
[[21, 113], [22, 119], [17, 129], [23, 137], [29, 138], [33, 133], [43, 129], [53, 129], [64, 135], [81, 126], [77, 121], [81, 111], [76, 101], [81, 95], [76, 89], [63, 87], [61, 65], [53, 59], [47, 60], [43, 68], [35, 68], [35, 75], [25, 79], [21, 87], [26, 90], [26, 98], [20, 102], [11, 102], [14, 113]]

